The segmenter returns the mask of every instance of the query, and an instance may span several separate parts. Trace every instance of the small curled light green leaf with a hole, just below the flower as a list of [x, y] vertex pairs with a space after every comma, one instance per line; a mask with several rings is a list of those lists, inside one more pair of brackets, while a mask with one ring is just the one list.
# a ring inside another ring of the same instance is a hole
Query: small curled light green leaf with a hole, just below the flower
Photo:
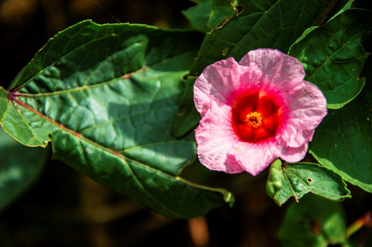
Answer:
[[266, 191], [279, 206], [293, 196], [299, 201], [305, 193], [314, 193], [331, 200], [349, 198], [341, 176], [314, 163], [284, 163], [276, 159], [270, 166]]

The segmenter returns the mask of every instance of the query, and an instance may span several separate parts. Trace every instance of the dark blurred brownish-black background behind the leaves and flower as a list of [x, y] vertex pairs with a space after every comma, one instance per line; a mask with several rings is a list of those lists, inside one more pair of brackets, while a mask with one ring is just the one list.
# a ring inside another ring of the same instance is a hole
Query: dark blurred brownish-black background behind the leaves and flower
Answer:
[[[181, 10], [192, 5], [187, 0], [1, 0], [0, 84], [10, 84], [49, 38], [79, 21], [187, 28]], [[278, 207], [266, 195], [268, 169], [256, 177], [226, 175], [194, 163], [183, 175], [229, 189], [234, 206], [194, 220], [171, 220], [50, 161], [36, 183], [0, 212], [0, 246], [279, 246], [277, 231], [293, 199]], [[371, 210], [372, 196], [348, 187], [353, 198], [342, 205], [351, 224]], [[353, 237], [363, 242], [371, 234], [371, 228], [362, 228]]]

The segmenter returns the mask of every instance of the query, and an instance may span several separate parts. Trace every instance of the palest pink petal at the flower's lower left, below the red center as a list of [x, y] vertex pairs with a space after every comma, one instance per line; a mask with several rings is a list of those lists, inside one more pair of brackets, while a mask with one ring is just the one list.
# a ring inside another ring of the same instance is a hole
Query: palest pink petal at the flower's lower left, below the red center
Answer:
[[274, 138], [261, 143], [240, 141], [231, 126], [231, 107], [214, 101], [196, 128], [195, 138], [200, 163], [230, 174], [246, 171], [255, 176], [285, 152]]

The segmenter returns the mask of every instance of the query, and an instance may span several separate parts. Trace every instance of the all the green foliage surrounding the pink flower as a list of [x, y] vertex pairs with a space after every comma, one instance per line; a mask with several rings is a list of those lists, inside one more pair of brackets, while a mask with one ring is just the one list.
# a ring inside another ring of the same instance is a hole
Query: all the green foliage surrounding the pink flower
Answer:
[[[314, 158], [270, 167], [266, 189], [277, 204], [318, 195], [290, 206], [279, 238], [286, 246], [345, 244], [340, 204], [319, 196], [349, 198], [346, 183], [372, 192], [371, 12], [353, 1], [195, 2], [184, 12], [194, 30], [77, 23], [0, 87], [0, 124], [23, 144], [1, 132], [0, 209], [43, 169], [47, 150], [30, 147], [49, 143], [52, 158], [167, 217], [232, 206], [230, 191], [182, 178], [196, 161], [194, 82], [213, 62], [274, 48], [303, 64], [329, 108], [310, 143]], [[306, 234], [292, 239], [295, 226]]]

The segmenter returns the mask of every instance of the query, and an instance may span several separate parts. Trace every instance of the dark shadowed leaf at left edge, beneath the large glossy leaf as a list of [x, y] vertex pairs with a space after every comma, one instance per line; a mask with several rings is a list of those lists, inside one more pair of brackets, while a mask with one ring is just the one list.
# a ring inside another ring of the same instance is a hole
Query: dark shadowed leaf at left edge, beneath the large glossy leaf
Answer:
[[38, 178], [49, 156], [47, 151], [27, 148], [0, 129], [0, 211]]

